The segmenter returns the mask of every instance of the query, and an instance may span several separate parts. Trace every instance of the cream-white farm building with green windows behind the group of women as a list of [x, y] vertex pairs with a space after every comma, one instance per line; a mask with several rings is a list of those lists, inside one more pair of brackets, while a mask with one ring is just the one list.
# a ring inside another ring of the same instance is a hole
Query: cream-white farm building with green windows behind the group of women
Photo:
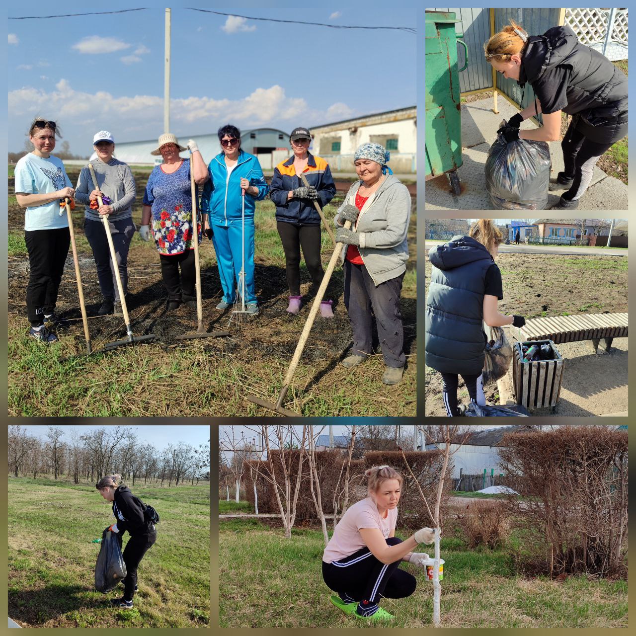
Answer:
[[385, 113], [311, 126], [315, 155], [329, 163], [331, 172], [355, 172], [354, 153], [360, 144], [382, 144], [390, 153], [389, 167], [396, 174], [417, 171], [416, 108], [410, 106]]

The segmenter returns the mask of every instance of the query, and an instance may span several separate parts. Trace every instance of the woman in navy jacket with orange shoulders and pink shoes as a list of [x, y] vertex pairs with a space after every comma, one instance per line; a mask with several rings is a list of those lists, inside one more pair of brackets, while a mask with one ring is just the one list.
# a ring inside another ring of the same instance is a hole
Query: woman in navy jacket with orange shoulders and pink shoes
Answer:
[[[300, 295], [300, 248], [315, 290], [322, 282], [324, 270], [320, 258], [321, 218], [314, 201], [322, 208], [336, 193], [329, 164], [308, 151], [312, 141], [307, 128], [294, 128], [289, 137], [293, 156], [280, 162], [274, 169], [270, 183], [270, 198], [276, 204], [276, 226], [285, 251], [287, 286], [289, 287], [290, 314], [298, 314], [302, 302]], [[304, 174], [309, 186], [303, 185]], [[333, 301], [323, 300], [320, 306], [324, 318], [333, 318]]]

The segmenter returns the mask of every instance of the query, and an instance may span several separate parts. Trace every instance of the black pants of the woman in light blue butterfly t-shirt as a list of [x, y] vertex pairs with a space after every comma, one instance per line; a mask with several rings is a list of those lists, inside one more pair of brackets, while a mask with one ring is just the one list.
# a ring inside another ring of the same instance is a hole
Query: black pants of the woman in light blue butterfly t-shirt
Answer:
[[37, 327], [44, 323], [44, 315], [52, 314], [55, 309], [71, 233], [69, 228], [25, 230], [24, 240], [31, 270], [27, 284], [27, 315], [31, 326]]

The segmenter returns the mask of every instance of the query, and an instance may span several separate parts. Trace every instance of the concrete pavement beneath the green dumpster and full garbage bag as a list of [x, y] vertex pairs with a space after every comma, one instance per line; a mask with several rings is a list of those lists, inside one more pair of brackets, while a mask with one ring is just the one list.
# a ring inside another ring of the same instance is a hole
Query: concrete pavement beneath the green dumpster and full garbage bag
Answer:
[[[499, 113], [492, 112], [492, 97], [462, 104], [462, 158], [464, 165], [457, 170], [462, 183], [462, 193], [455, 197], [445, 174], [431, 179], [425, 185], [425, 209], [427, 210], [490, 210], [490, 197], [485, 187], [484, 167], [488, 149], [497, 137], [497, 128], [502, 119], [508, 120], [518, 111], [499, 96]], [[535, 128], [531, 121], [524, 121], [523, 128]], [[559, 141], [551, 142], [551, 176], [563, 170], [563, 152]], [[548, 207], [554, 205], [561, 191], [548, 195]], [[594, 167], [589, 188], [579, 204], [581, 210], [626, 210], [627, 186]]]

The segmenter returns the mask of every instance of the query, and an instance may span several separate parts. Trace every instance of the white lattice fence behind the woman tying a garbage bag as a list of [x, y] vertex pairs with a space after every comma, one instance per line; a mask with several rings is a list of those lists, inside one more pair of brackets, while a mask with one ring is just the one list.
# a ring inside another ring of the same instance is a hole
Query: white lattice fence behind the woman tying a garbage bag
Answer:
[[584, 45], [595, 48], [610, 60], [627, 59], [627, 9], [567, 9], [565, 24]]

